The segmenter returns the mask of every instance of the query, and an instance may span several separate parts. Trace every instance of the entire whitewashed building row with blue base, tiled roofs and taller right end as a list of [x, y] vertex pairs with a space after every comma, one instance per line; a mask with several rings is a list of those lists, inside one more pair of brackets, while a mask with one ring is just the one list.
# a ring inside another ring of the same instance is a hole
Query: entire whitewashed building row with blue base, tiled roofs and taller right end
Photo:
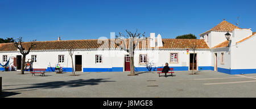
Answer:
[[[231, 41], [225, 38], [228, 31], [232, 34]], [[191, 70], [191, 47], [197, 45], [194, 60], [196, 70], [216, 70], [228, 74], [256, 73], [256, 57], [250, 50], [251, 47], [256, 47], [255, 32], [241, 29], [225, 20], [201, 33], [200, 39], [162, 39], [161, 35], [155, 36], [155, 33], [150, 33], [150, 37], [151, 40], [140, 41], [135, 49], [135, 71], [156, 71], [166, 62], [176, 71]], [[23, 43], [25, 49], [29, 43]], [[129, 53], [117, 47], [113, 39], [36, 41], [35, 44], [35, 48], [26, 56], [34, 61], [34, 69], [54, 72], [55, 66], [60, 64], [64, 72], [71, 72], [68, 49], [72, 48], [76, 72], [130, 70]], [[21, 56], [13, 43], [0, 44], [1, 64], [5, 64], [10, 58], [9, 66], [20, 70]]]

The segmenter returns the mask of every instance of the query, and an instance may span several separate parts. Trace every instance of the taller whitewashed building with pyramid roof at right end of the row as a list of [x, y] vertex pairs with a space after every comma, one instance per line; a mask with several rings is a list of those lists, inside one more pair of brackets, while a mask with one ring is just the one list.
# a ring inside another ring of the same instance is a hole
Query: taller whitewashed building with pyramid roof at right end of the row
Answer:
[[[230, 41], [225, 34], [229, 32]], [[256, 57], [253, 48], [256, 47], [256, 32], [242, 29], [226, 22], [224, 19], [216, 27], [201, 33], [209, 45], [211, 69], [228, 74], [256, 73]]]

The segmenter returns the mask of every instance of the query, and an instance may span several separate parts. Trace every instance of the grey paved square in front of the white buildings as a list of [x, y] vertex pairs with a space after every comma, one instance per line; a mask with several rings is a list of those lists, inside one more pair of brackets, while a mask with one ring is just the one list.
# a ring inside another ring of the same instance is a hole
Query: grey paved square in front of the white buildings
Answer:
[[256, 74], [229, 75], [213, 71], [175, 72], [158, 77], [156, 72], [46, 73], [0, 72], [1, 97], [256, 97]]

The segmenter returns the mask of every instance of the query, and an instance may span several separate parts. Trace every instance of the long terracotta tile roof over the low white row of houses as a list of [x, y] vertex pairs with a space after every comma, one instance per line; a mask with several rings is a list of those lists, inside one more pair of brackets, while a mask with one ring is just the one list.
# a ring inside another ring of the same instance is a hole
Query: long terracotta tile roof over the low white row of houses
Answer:
[[[209, 49], [204, 39], [162, 39], [163, 47], [159, 49], [183, 49], [189, 48], [193, 44], [197, 45], [198, 49]], [[128, 40], [126, 40], [127, 43]], [[93, 40], [59, 40], [59, 41], [35, 41], [35, 47], [31, 50], [52, 50], [52, 49], [109, 49], [119, 48], [114, 44], [114, 39], [93, 39]], [[24, 42], [23, 47], [27, 50], [30, 42]], [[123, 42], [121, 42], [123, 45]], [[127, 43], [126, 48], [128, 48]], [[140, 41], [137, 49], [150, 48], [150, 39]], [[13, 43], [0, 45], [0, 51], [17, 51]]]

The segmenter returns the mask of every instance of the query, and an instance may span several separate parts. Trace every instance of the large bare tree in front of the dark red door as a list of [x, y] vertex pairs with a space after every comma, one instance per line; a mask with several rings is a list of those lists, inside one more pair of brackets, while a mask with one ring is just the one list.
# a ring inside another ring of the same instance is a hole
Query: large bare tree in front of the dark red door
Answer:
[[[134, 68], [134, 50], [139, 44], [140, 41], [146, 40], [145, 32], [143, 34], [138, 33], [138, 30], [136, 30], [135, 33], [132, 33], [130, 31], [127, 31], [127, 35], [123, 35], [122, 32], [119, 32], [119, 36], [115, 36], [115, 44], [121, 48], [123, 51], [126, 51], [129, 53], [130, 57], [130, 76], [135, 76], [135, 68]], [[127, 47], [127, 43], [129, 44]]]

